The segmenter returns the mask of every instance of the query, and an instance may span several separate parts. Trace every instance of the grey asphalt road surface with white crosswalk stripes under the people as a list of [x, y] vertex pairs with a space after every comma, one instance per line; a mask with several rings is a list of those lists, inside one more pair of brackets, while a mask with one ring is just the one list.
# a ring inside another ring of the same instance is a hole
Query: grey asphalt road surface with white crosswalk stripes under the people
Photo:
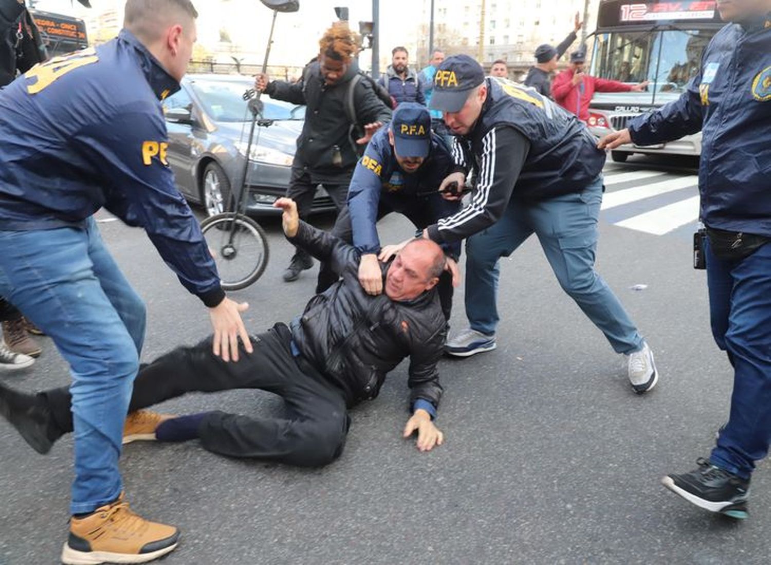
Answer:
[[[705, 274], [691, 266], [695, 171], [630, 161], [606, 170], [598, 271], [655, 351], [654, 391], [631, 391], [622, 358], [561, 291], [531, 238], [502, 261], [497, 350], [441, 362], [437, 423], [446, 442], [435, 451], [420, 453], [401, 438], [406, 364], [378, 399], [352, 411], [345, 452], [323, 469], [226, 459], [197, 442], [127, 446], [133, 508], [183, 532], [164, 563], [767, 563], [768, 465], [759, 464], [743, 523], [699, 510], [659, 483], [709, 455], [732, 373], [709, 333]], [[290, 320], [315, 285], [315, 270], [281, 281], [291, 248], [278, 221], [263, 223], [268, 270], [232, 294], [251, 304], [253, 331]], [[145, 235], [120, 222], [101, 228], [148, 305], [143, 358], [204, 337], [204, 307]], [[399, 217], [379, 230], [384, 242], [412, 234]], [[460, 288], [453, 330], [465, 322]], [[48, 340], [32, 370], [0, 378], [28, 391], [69, 379]], [[235, 391], [159, 408], [278, 414], [281, 402]], [[0, 563], [56, 563], [72, 439], [39, 456], [0, 422], [0, 465]]]

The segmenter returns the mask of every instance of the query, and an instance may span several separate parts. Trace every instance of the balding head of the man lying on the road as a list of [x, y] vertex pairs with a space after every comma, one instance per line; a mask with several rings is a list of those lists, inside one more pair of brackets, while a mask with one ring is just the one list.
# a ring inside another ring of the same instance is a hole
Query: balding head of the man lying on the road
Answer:
[[415, 300], [436, 286], [444, 264], [444, 251], [432, 240], [410, 241], [389, 266], [385, 294], [395, 301]]

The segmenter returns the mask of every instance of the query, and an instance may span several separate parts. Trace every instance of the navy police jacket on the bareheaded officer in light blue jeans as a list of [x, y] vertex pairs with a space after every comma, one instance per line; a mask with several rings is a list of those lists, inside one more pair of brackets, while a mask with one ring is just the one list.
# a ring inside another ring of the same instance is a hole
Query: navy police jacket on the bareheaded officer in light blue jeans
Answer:
[[125, 29], [0, 90], [0, 230], [81, 227], [100, 207], [143, 227], [207, 306], [224, 298], [174, 185], [160, 100], [180, 88]]

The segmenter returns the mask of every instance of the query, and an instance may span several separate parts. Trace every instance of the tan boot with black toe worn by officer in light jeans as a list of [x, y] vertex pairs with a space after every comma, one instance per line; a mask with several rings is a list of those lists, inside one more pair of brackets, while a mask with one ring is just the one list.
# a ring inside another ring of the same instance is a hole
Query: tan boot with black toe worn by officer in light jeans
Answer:
[[146, 563], [173, 551], [179, 538], [177, 528], [148, 522], [133, 513], [121, 493], [114, 503], [88, 516], [72, 516], [62, 563]]

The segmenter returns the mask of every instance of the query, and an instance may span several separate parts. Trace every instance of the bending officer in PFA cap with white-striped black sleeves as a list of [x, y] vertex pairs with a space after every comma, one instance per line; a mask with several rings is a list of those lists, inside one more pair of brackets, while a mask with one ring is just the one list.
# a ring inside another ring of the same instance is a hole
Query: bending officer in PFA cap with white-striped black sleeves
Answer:
[[575, 116], [550, 99], [505, 79], [485, 79], [467, 55], [436, 72], [432, 106], [456, 135], [453, 156], [463, 185], [476, 170], [470, 205], [428, 227], [437, 243], [466, 241], [466, 316], [470, 328], [448, 341], [450, 355], [496, 347], [500, 257], [536, 234], [557, 280], [611, 346], [628, 357], [636, 392], [658, 379], [653, 354], [608, 284], [594, 271], [605, 156]]

